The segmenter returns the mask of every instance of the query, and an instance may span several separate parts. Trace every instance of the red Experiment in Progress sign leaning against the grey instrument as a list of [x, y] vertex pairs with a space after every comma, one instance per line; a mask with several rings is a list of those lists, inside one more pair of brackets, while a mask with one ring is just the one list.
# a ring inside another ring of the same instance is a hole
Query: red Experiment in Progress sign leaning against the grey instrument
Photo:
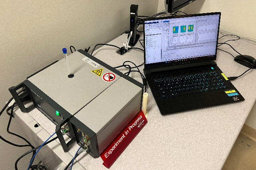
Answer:
[[103, 165], [110, 168], [146, 124], [147, 119], [145, 118], [144, 113], [140, 111], [100, 154], [100, 157], [104, 161]]

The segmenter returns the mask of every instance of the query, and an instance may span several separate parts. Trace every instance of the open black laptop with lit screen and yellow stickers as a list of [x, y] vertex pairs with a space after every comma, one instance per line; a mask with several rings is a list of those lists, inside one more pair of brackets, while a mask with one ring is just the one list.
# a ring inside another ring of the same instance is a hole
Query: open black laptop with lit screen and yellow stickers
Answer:
[[144, 20], [144, 74], [162, 115], [244, 101], [214, 62], [220, 12]]

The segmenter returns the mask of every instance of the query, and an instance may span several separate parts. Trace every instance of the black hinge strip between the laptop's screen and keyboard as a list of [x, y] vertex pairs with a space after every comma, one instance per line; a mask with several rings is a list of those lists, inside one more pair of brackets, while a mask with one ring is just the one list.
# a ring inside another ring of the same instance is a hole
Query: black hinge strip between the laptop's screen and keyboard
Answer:
[[161, 68], [151, 68], [150, 72], [158, 72], [158, 71], [166, 71], [166, 70], [174, 70], [180, 68], [188, 68], [188, 67], [196, 67], [196, 66], [203, 66], [203, 65], [217, 65], [214, 61], [204, 61], [198, 63], [190, 63], [190, 64], [182, 64], [182, 65], [175, 65], [175, 66], [168, 66], [168, 67], [161, 67]]

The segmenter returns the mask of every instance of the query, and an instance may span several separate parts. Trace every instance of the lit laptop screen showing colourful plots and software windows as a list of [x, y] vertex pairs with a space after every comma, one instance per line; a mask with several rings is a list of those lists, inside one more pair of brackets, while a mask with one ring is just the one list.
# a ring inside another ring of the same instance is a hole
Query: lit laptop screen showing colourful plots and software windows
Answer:
[[220, 13], [147, 19], [144, 21], [145, 64], [216, 59], [219, 22]]

